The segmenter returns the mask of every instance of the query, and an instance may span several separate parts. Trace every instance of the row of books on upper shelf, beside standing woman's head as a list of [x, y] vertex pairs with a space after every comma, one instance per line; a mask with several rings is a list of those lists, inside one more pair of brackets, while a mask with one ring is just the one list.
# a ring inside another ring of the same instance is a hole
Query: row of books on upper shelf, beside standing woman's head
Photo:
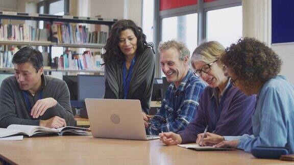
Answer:
[[54, 23], [51, 26], [53, 42], [67, 44], [105, 44], [107, 32], [89, 32], [85, 25]]

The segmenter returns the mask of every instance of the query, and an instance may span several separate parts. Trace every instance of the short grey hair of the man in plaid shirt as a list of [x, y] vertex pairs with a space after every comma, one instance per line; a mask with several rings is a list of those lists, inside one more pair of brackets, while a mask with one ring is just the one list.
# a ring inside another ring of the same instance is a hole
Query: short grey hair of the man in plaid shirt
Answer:
[[167, 50], [169, 48], [175, 48], [179, 51], [179, 60], [184, 61], [185, 56], [190, 57], [190, 51], [187, 46], [179, 41], [176, 40], [169, 40], [166, 42], [160, 42], [158, 45], [158, 51], [161, 52], [162, 50]]

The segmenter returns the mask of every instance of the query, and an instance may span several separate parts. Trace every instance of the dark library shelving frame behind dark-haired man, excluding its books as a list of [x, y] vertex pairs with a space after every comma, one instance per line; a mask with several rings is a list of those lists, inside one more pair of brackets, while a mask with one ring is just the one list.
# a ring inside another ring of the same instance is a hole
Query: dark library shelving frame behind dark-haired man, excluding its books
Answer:
[[[65, 23], [87, 23], [87, 24], [101, 24], [107, 25], [109, 32], [113, 23], [117, 19], [106, 19], [106, 18], [96, 18], [96, 17], [79, 17], [79, 16], [70, 16], [70, 15], [49, 15], [49, 14], [36, 14], [36, 13], [20, 13], [20, 12], [5, 12], [0, 11], [0, 22], [2, 19], [16, 19], [16, 20], [32, 20], [32, 21], [47, 21], [50, 25], [53, 22], [65, 22]], [[49, 39], [51, 40], [52, 34], [49, 33]], [[99, 43], [85, 43], [85, 44], [68, 44], [68, 43], [58, 43], [51, 41], [0, 41], [0, 45], [31, 45], [31, 46], [48, 46], [48, 58], [52, 59], [52, 46], [60, 47], [72, 47], [72, 48], [94, 48], [100, 49], [103, 48], [105, 44]], [[50, 62], [51, 65], [51, 62]], [[0, 68], [0, 71], [12, 71], [13, 68]], [[103, 73], [100, 70], [60, 70], [60, 69], [44, 69], [44, 71], [60, 71], [60, 72], [92, 72], [92, 73]]]

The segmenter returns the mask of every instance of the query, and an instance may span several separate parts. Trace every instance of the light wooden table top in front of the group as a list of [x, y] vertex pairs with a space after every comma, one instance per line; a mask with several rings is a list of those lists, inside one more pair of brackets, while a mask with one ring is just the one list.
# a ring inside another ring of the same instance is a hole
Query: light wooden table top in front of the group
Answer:
[[257, 159], [243, 151], [193, 151], [159, 140], [98, 139], [92, 136], [30, 137], [0, 141], [0, 157], [16, 164], [288, 164]]

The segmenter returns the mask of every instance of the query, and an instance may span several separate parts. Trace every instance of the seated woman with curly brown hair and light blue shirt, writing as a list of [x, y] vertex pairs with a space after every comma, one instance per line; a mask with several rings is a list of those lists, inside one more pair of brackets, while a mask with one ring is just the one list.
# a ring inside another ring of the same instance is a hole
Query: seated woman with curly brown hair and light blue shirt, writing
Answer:
[[278, 55], [264, 43], [244, 38], [227, 48], [221, 61], [227, 66], [234, 86], [247, 95], [257, 95], [253, 135], [210, 134], [203, 141], [246, 152], [256, 146], [275, 146], [287, 147], [294, 153], [294, 87], [278, 75], [282, 65]]

